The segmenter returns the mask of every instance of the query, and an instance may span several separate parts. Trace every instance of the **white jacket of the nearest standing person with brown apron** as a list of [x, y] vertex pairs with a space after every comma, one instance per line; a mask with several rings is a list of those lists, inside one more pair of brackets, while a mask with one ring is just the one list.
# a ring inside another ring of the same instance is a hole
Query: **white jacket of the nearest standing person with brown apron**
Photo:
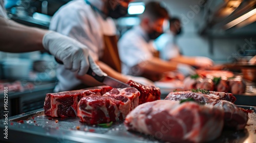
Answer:
[[[91, 5], [101, 10], [103, 1], [88, 0]], [[92, 58], [97, 61], [103, 54], [103, 35], [116, 35], [116, 26], [112, 18], [103, 18], [100, 12], [91, 7], [84, 0], [71, 1], [62, 6], [52, 17], [50, 30], [72, 37], [89, 48]], [[70, 90], [81, 81], [76, 74], [65, 69], [63, 65], [57, 68], [59, 80], [55, 91]]]

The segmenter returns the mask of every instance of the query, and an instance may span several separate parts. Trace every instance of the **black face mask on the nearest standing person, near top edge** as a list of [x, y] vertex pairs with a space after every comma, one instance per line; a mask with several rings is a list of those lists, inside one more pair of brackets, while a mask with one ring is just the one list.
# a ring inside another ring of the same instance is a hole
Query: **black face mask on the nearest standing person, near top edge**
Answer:
[[118, 5], [115, 9], [109, 8], [109, 14], [108, 16], [112, 18], [119, 18], [127, 14], [127, 8]]

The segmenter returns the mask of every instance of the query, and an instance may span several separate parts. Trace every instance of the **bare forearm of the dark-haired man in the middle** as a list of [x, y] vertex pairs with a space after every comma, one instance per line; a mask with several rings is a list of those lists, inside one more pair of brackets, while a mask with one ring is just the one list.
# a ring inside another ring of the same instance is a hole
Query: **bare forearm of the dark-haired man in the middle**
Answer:
[[177, 63], [166, 62], [159, 58], [152, 58], [150, 60], [139, 63], [138, 65], [144, 72], [162, 74], [166, 71], [177, 69]]

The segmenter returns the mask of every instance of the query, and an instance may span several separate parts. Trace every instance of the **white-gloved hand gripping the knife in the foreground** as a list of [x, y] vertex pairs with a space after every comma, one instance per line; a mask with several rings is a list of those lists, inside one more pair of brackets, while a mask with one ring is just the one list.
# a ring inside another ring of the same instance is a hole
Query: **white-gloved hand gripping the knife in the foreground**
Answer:
[[44, 35], [42, 45], [54, 57], [62, 61], [65, 68], [76, 71], [80, 76], [87, 73], [90, 65], [95, 74], [99, 76], [104, 74], [89, 56], [87, 46], [70, 37], [49, 31]]

